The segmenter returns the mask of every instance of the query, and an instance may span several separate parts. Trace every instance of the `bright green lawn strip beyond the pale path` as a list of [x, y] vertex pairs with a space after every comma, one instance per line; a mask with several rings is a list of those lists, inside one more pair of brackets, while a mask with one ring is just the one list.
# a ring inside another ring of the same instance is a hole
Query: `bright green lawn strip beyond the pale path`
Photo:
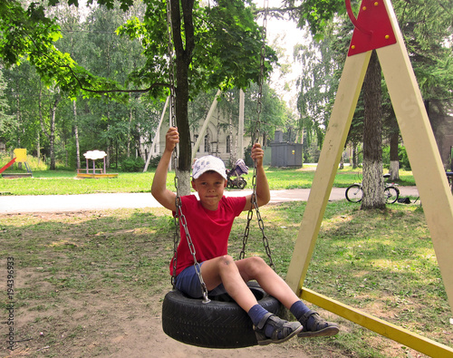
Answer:
[[[303, 169], [266, 168], [271, 189], [311, 188], [315, 167]], [[244, 176], [248, 189], [251, 188], [253, 171]], [[114, 192], [149, 192], [154, 169], [146, 173], [120, 173], [115, 179], [75, 179], [72, 170], [37, 170], [34, 178], [0, 179], [0, 194], [4, 195], [48, 195], [48, 194], [91, 194]], [[334, 187], [346, 188], [361, 181], [361, 169], [346, 166], [338, 170]], [[400, 185], [415, 185], [410, 171], [400, 170]], [[174, 188], [174, 172], [169, 172], [168, 188]]]

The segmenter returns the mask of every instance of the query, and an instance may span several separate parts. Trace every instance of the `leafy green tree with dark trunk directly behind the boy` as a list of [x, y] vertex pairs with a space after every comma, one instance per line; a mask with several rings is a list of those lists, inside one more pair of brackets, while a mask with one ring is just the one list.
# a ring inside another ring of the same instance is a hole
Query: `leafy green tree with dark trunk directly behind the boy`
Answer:
[[[49, 5], [57, 3], [58, 0], [51, 0]], [[97, 3], [109, 9], [114, 5], [112, 0]], [[136, 92], [162, 97], [169, 89], [166, 4], [158, 0], [143, 3], [147, 6], [143, 21], [132, 18], [119, 30], [121, 35], [140, 39], [146, 57], [145, 64], [130, 73], [126, 83], [94, 75], [75, 63], [68, 53], [58, 51], [53, 42], [61, 37], [59, 26], [46, 16], [46, 6], [35, 3], [27, 9], [14, 0], [0, 5], [0, 32], [5, 34], [0, 39], [0, 56], [9, 64], [20, 63], [24, 55], [28, 56], [44, 81], [57, 82], [61, 91], [72, 97], [81, 91], [89, 96], [119, 97], [120, 93], [131, 91], [128, 83], [139, 88]], [[78, 2], [69, 0], [68, 4]], [[120, 1], [122, 10], [130, 5], [130, 0]], [[188, 187], [191, 157], [188, 101], [207, 89], [246, 88], [251, 81], [256, 82], [261, 73], [258, 63], [262, 39], [249, 2], [219, 0], [203, 7], [193, 0], [169, 0], [169, 8], [171, 44], [175, 51], [179, 169], [187, 177], [183, 181]], [[265, 55], [263, 72], [267, 73], [275, 56], [270, 48], [266, 48]]]

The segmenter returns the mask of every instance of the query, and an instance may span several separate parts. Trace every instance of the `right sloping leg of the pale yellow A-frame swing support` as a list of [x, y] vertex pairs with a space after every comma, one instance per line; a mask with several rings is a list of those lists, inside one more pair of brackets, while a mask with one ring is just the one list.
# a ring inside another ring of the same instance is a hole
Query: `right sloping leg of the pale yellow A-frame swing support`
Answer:
[[419, 189], [448, 303], [453, 310], [453, 196], [396, 16], [391, 5], [387, 7], [397, 44], [376, 52]]

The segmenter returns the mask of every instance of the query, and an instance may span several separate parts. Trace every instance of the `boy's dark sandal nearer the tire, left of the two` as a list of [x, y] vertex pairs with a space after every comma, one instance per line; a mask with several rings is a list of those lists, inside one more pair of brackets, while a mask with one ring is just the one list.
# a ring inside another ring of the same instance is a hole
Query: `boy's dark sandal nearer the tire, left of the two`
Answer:
[[[270, 324], [273, 327], [272, 337], [265, 335], [265, 328]], [[259, 324], [254, 326], [256, 340], [259, 345], [266, 345], [269, 343], [283, 343], [288, 339], [294, 337], [303, 329], [302, 324], [299, 322], [288, 322], [277, 317], [275, 314], [267, 313], [261, 319]]]

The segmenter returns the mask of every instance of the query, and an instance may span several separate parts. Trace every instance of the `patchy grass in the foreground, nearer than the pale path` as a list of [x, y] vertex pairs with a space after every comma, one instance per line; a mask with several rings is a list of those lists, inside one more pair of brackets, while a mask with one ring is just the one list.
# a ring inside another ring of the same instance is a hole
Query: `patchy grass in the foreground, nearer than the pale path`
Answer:
[[[305, 203], [292, 202], [260, 210], [282, 276], [304, 208]], [[114, 330], [129, 321], [140, 323], [136, 319], [143, 315], [154, 317], [159, 299], [169, 290], [172, 222], [162, 208], [2, 217], [0, 256], [14, 256], [21, 277], [15, 290], [21, 322], [17, 339], [33, 338], [19, 346], [30, 356], [115, 353]], [[246, 215], [236, 219], [230, 238], [233, 256], [242, 247], [245, 226]], [[257, 225], [251, 227], [246, 255], [265, 257]], [[361, 211], [345, 200], [329, 203], [304, 286], [453, 346], [451, 311], [419, 206]], [[2, 296], [0, 305], [6, 304]], [[319, 312], [338, 322], [341, 333], [294, 339], [286, 346], [313, 357], [423, 356]], [[121, 313], [129, 318], [121, 319]], [[42, 347], [48, 348], [34, 353]]]

